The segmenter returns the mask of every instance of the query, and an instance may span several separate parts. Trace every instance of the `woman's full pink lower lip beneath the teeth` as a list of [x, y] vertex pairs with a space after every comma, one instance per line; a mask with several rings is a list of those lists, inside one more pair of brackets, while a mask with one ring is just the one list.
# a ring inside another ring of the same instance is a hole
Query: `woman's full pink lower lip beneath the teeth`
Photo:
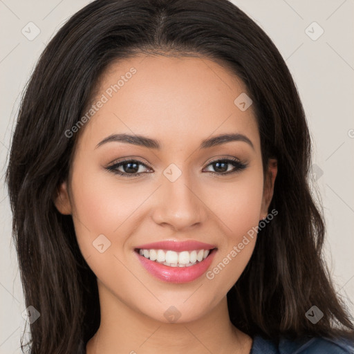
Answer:
[[141, 256], [135, 252], [142, 266], [154, 277], [169, 283], [189, 283], [201, 277], [214, 259], [216, 248], [203, 261], [189, 267], [169, 267]]

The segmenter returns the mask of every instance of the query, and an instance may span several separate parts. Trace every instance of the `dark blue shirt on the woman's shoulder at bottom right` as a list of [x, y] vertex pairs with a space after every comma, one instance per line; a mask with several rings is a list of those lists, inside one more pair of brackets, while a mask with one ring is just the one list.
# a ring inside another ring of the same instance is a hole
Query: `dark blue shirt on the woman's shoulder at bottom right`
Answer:
[[313, 337], [296, 341], [281, 338], [277, 344], [257, 335], [253, 339], [250, 354], [354, 354], [354, 342]]

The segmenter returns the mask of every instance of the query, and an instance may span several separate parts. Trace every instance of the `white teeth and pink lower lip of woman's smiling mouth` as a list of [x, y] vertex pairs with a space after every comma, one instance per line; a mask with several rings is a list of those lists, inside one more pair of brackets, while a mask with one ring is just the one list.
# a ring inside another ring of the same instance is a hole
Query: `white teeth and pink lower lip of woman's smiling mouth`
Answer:
[[176, 247], [175, 250], [166, 247], [168, 246], [165, 244], [165, 249], [135, 248], [134, 253], [142, 267], [153, 277], [170, 283], [188, 283], [201, 277], [209, 268], [218, 250], [215, 247], [210, 248], [210, 245], [180, 252], [176, 251]]

